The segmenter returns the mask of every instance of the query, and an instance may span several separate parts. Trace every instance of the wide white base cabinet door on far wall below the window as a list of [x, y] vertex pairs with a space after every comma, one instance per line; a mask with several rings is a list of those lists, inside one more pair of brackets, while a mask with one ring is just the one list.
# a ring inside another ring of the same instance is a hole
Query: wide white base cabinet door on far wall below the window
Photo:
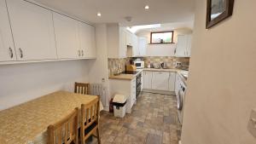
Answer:
[[169, 89], [169, 72], [153, 72], [152, 89], [165, 90]]

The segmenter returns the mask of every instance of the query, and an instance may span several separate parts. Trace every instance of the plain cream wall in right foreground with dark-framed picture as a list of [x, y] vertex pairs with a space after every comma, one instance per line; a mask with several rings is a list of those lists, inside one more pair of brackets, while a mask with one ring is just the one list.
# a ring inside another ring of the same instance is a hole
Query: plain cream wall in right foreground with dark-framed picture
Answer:
[[196, 1], [195, 31], [183, 118], [183, 144], [255, 144], [247, 130], [256, 108], [255, 0], [206, 29], [207, 1]]

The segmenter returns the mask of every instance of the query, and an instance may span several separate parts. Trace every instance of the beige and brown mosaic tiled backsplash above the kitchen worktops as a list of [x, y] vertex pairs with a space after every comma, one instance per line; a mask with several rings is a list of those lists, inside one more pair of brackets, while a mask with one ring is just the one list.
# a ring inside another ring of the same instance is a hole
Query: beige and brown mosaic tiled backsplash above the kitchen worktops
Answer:
[[[136, 58], [132, 58], [136, 59]], [[125, 64], [129, 62], [131, 58], [124, 59], [108, 59], [108, 74], [113, 75], [115, 73], [124, 72]], [[175, 68], [176, 63], [180, 62], [182, 65], [189, 66], [189, 58], [177, 58], [172, 56], [148, 56], [143, 57], [145, 61], [145, 67], [150, 64], [160, 65], [162, 62], [166, 62], [167, 68]]]

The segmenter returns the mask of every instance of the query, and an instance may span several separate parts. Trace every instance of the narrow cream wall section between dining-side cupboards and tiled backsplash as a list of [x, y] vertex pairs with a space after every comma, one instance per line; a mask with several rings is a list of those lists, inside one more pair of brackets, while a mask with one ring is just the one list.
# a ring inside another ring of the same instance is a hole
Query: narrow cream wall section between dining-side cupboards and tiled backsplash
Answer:
[[[103, 84], [106, 98], [105, 110], [108, 110], [108, 42], [107, 42], [107, 25], [96, 25], [96, 60], [90, 60], [89, 81], [90, 83]], [[104, 81], [102, 80], [104, 79]], [[103, 102], [103, 101], [102, 101]]]

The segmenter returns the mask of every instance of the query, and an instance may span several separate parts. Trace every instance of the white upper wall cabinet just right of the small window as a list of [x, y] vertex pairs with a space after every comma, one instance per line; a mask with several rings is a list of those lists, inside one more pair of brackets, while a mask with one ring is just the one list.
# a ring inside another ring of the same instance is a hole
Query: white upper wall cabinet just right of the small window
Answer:
[[177, 57], [189, 57], [191, 50], [191, 35], [178, 35], [177, 36]]

